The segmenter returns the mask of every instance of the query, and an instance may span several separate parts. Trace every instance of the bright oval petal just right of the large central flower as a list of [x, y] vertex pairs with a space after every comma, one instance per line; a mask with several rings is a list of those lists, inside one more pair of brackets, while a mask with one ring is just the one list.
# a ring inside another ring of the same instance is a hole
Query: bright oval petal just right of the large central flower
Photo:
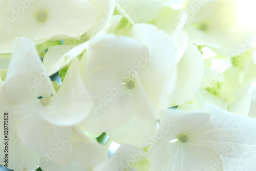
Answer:
[[189, 44], [179, 62], [173, 102], [180, 105], [193, 98], [201, 86], [203, 76], [203, 57], [196, 46]]

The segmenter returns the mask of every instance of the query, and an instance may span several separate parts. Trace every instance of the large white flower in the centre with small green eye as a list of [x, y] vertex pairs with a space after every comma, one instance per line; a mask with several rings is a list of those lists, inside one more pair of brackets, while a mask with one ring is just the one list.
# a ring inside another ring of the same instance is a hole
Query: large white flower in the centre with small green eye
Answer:
[[145, 24], [134, 25], [129, 35], [134, 39], [105, 35], [92, 40], [83, 75], [95, 106], [80, 126], [105, 131], [117, 143], [145, 146], [158, 111], [168, 107], [177, 60], [184, 53], [179, 48], [186, 43], [176, 46], [166, 33]]

